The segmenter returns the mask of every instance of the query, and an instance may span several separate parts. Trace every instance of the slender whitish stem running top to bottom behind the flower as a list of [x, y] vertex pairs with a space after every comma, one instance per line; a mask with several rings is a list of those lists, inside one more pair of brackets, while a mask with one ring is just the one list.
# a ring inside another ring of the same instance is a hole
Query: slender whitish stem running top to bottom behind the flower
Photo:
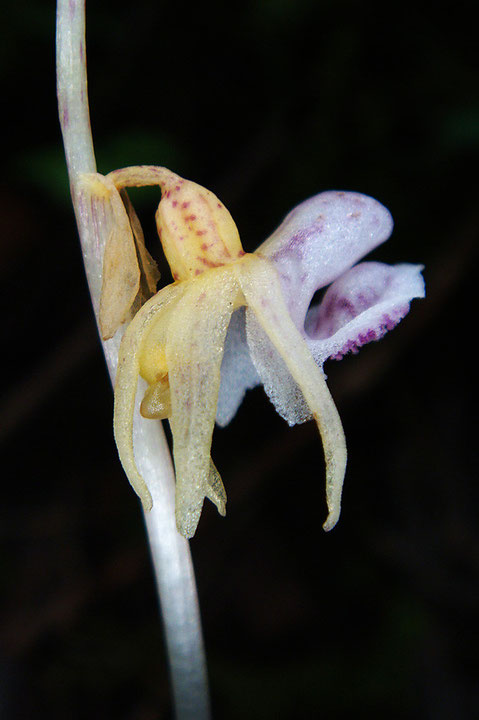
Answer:
[[[76, 192], [79, 175], [96, 172], [88, 110], [84, 0], [58, 0], [57, 91], [73, 206], [98, 322], [104, 239], [95, 236]], [[102, 343], [112, 382], [120, 340], [117, 332]], [[176, 530], [174, 471], [161, 424], [144, 421], [137, 412], [134, 443], [139, 470], [153, 497], [145, 524], [165, 626], [176, 717], [207, 720], [208, 684], [194, 571], [188, 541]]]

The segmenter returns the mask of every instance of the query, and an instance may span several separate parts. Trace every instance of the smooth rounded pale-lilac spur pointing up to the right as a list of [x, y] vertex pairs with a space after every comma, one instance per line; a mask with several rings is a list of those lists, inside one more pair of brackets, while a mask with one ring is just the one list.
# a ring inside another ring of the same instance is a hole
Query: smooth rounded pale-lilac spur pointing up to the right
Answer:
[[392, 227], [383, 205], [354, 192], [320, 193], [286, 216], [257, 252], [274, 263], [297, 327], [316, 290], [387, 240]]

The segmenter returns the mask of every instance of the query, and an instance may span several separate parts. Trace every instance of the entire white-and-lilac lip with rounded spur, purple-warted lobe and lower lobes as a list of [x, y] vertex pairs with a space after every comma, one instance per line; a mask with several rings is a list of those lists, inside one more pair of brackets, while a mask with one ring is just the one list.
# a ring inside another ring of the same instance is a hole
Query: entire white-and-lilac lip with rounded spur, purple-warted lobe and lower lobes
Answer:
[[[381, 339], [405, 317], [411, 300], [424, 297], [421, 265], [356, 264], [392, 228], [389, 211], [377, 200], [329, 191], [294, 208], [258, 248], [273, 262], [291, 318], [320, 367]], [[326, 287], [322, 301], [310, 307], [315, 292]], [[240, 309], [226, 339], [218, 424], [228, 424], [246, 390], [260, 383], [290, 425], [309, 419], [284, 362], [254, 315]]]

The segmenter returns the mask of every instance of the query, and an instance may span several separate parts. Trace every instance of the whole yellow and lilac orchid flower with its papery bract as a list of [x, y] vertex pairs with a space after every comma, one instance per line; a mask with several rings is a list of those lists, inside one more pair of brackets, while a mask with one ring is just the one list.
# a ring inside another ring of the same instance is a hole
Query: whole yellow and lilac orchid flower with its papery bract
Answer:
[[[125, 188], [158, 185], [158, 234], [174, 282], [158, 272]], [[209, 190], [161, 167], [82, 176], [81, 203], [107, 237], [100, 327], [104, 338], [131, 320], [115, 384], [120, 460], [146, 510], [151, 495], [133, 447], [139, 377], [144, 418], [168, 418], [176, 471], [176, 522], [192, 537], [204, 498], [225, 514], [211, 459], [215, 419], [225, 425], [246, 389], [263, 383], [289, 424], [314, 418], [326, 461], [328, 517], [336, 524], [346, 443], [322, 370], [379, 339], [424, 295], [420, 266], [361, 263], [387, 239], [389, 212], [357, 193], [326, 192], [299, 205], [254, 253], [245, 253], [228, 210]], [[332, 284], [331, 284], [332, 283]], [[314, 293], [331, 284], [319, 306]]]

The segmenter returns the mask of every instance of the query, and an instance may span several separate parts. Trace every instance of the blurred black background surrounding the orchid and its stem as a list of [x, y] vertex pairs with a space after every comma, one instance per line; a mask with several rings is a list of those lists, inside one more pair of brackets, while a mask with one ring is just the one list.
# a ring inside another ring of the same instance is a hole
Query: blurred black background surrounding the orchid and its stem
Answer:
[[[215, 432], [228, 514], [205, 507], [191, 543], [215, 720], [479, 716], [472, 8], [87, 8], [101, 172], [150, 163], [196, 180], [247, 250], [302, 199], [361, 191], [396, 222], [373, 257], [426, 266], [427, 300], [327, 367], [350, 457], [332, 533], [312, 424], [289, 429], [258, 389]], [[3, 11], [0, 715], [169, 718], [142, 516], [112, 439], [68, 197], [54, 7]], [[160, 257], [157, 194], [134, 201]]]

